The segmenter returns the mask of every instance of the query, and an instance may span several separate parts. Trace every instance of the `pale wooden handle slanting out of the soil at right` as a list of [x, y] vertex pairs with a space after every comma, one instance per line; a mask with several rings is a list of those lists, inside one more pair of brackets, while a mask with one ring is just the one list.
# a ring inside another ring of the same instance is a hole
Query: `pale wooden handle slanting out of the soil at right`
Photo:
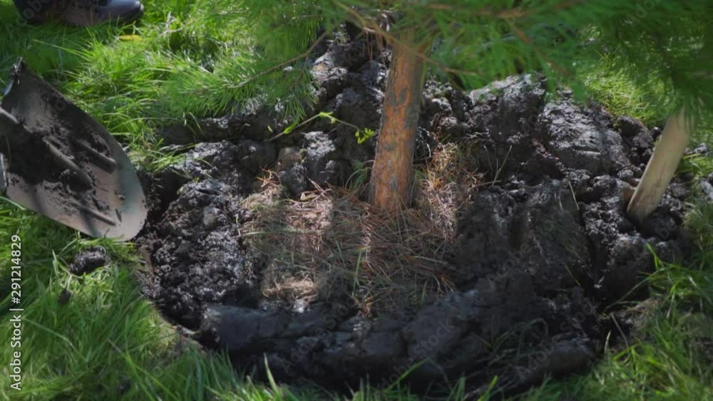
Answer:
[[684, 115], [684, 109], [669, 117], [654, 155], [646, 165], [627, 207], [627, 213], [635, 221], [641, 222], [658, 206], [683, 157], [693, 129], [692, 121], [687, 121]]

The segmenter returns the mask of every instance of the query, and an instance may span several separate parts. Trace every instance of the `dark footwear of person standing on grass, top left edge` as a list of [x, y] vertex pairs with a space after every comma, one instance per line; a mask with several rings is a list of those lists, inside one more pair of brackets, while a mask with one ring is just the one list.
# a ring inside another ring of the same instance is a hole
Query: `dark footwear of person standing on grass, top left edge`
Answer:
[[106, 21], [125, 24], [143, 15], [143, 5], [138, 0], [15, 0], [15, 4], [32, 23], [54, 20], [73, 26]]

